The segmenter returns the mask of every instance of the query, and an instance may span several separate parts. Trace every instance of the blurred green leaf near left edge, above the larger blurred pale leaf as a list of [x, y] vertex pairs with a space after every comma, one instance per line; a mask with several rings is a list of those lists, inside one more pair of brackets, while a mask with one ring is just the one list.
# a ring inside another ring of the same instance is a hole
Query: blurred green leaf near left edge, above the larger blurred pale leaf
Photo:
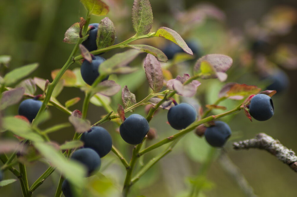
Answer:
[[28, 122], [11, 116], [4, 117], [3, 129], [13, 132], [15, 135], [31, 141], [43, 141], [43, 138], [35, 133]]

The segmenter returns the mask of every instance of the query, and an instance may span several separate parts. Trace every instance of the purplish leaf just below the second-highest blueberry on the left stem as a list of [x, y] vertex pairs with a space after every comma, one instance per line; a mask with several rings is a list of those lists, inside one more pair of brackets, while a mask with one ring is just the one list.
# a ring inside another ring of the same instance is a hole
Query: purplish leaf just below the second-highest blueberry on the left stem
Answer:
[[113, 96], [121, 90], [121, 86], [112, 80], [106, 80], [99, 83], [92, 90], [93, 94], [100, 93], [104, 96]]

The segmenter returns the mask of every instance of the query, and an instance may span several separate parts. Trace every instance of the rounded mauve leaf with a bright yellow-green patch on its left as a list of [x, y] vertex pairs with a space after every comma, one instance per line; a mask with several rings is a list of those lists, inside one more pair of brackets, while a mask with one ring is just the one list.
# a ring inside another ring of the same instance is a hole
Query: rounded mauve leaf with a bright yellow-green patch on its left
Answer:
[[194, 74], [200, 75], [202, 79], [219, 78], [220, 81], [227, 79], [225, 72], [232, 65], [231, 57], [222, 54], [209, 54], [197, 60]]

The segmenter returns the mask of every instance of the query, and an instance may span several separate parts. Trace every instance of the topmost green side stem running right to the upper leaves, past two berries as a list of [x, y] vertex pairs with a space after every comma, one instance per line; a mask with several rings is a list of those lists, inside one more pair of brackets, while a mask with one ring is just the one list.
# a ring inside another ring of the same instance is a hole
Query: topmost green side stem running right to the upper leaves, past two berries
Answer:
[[[100, 53], [103, 53], [103, 52], [106, 52], [106, 51], [110, 51], [112, 49], [124, 48], [124, 47], [126, 47], [124, 45], [129, 44], [132, 41], [143, 39], [143, 38], [151, 38], [154, 35], [155, 35], [155, 33], [153, 32], [153, 33], [148, 33], [147, 35], [143, 35], [143, 36], [133, 36], [133, 37], [130, 37], [128, 40], [125, 40], [124, 42], [121, 42], [119, 44], [109, 46], [109, 47], [106, 47], [106, 48], [103, 48], [103, 49], [97, 49], [95, 51], [91, 51], [90, 53], [93, 54], [93, 55], [97, 55], [97, 54], [100, 54]], [[74, 58], [75, 61], [81, 60], [81, 59], [83, 59], [82, 55], [78, 55], [78, 56], [76, 56]]]

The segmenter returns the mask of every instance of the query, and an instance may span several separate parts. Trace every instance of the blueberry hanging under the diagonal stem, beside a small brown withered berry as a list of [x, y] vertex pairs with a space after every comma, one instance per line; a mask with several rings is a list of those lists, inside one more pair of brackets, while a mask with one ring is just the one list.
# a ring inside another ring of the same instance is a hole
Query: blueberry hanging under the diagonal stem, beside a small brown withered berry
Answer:
[[204, 136], [211, 146], [222, 147], [231, 136], [231, 129], [225, 122], [215, 121], [214, 123], [214, 126], [210, 126], [205, 130]]

